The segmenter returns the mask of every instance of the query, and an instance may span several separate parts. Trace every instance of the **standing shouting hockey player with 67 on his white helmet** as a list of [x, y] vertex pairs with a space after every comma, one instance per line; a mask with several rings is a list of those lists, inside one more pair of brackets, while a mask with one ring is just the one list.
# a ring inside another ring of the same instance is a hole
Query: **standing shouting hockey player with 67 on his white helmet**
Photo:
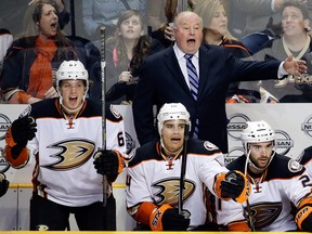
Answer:
[[18, 169], [35, 159], [30, 230], [64, 231], [69, 213], [79, 230], [116, 230], [112, 186], [106, 207], [102, 204], [102, 174], [112, 183], [122, 170], [123, 120], [113, 106], [106, 108], [112, 150], [98, 151], [102, 107], [86, 99], [88, 88], [82, 63], [64, 61], [56, 72], [60, 98], [29, 105], [8, 130], [3, 155], [9, 164]]

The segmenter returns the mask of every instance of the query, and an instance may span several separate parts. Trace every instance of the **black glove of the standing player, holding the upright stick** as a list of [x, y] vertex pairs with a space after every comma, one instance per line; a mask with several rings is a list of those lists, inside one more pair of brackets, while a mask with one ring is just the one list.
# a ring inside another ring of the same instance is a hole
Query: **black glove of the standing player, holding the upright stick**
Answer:
[[100, 174], [105, 174], [110, 181], [118, 176], [119, 158], [114, 151], [98, 151], [94, 155], [94, 168]]

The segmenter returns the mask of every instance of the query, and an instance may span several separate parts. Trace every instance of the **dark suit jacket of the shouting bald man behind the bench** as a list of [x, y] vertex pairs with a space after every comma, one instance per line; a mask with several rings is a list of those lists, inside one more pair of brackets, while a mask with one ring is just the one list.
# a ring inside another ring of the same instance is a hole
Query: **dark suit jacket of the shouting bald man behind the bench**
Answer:
[[[165, 103], [182, 103], [194, 121], [199, 119], [199, 139], [208, 140], [227, 153], [227, 117], [225, 93], [231, 81], [277, 79], [281, 62], [244, 62], [226, 49], [202, 46], [199, 49], [198, 100], [194, 101], [173, 48], [147, 57], [133, 100], [134, 126], [140, 144], [159, 139], [154, 127], [153, 104], [159, 109]], [[246, 105], [248, 108], [248, 105]]]

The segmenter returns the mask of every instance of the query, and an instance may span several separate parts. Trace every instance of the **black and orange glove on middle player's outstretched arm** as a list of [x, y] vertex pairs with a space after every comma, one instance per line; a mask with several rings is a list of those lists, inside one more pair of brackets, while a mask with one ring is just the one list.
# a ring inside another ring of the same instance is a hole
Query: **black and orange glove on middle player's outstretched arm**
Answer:
[[221, 182], [222, 197], [231, 197], [235, 202], [244, 203], [248, 199], [250, 187], [246, 177], [239, 171], [229, 171]]

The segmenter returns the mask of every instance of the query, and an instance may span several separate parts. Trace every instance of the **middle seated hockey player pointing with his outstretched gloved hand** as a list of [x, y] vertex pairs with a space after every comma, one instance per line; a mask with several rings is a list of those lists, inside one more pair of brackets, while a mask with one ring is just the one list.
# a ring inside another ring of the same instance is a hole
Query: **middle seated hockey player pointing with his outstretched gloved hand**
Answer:
[[[205, 225], [206, 186], [221, 198], [242, 203], [249, 193], [247, 180], [240, 172], [223, 166], [223, 155], [216, 145], [191, 139], [183, 192], [183, 213], [188, 216], [179, 212], [184, 126], [191, 125], [190, 114], [181, 103], [169, 103], [160, 108], [157, 120], [160, 141], [138, 148], [127, 168], [127, 208], [140, 223], [135, 230], [210, 230]], [[237, 231], [249, 227], [245, 222]]]

